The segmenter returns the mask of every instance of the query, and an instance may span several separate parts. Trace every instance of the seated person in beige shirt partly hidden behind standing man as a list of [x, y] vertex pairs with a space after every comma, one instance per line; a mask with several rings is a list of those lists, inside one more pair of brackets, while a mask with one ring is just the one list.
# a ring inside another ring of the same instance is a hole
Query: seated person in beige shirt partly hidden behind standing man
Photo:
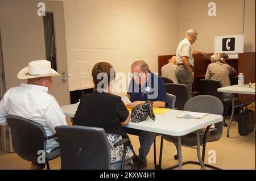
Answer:
[[162, 77], [166, 77], [172, 80], [172, 82], [177, 83], [177, 77], [175, 75], [176, 65], [176, 56], [172, 56], [168, 64], [162, 66], [161, 73]]

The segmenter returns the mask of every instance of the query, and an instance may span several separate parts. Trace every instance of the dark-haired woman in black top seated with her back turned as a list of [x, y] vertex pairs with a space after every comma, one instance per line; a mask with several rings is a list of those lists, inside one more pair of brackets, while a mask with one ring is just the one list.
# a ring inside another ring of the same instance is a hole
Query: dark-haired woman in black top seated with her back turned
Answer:
[[[131, 114], [121, 97], [112, 95], [114, 69], [108, 62], [99, 62], [92, 69], [94, 92], [82, 95], [73, 125], [104, 128], [111, 150], [111, 163], [122, 161], [123, 145], [114, 148], [115, 142], [129, 138], [121, 125], [130, 122]], [[126, 159], [133, 157], [133, 151], [127, 146]]]

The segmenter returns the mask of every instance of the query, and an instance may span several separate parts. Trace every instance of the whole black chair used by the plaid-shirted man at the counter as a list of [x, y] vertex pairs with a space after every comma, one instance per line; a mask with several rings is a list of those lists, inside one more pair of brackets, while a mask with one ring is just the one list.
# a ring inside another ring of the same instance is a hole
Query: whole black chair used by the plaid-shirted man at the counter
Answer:
[[[200, 94], [201, 95], [212, 95], [216, 98], [220, 99], [221, 102], [224, 104], [225, 114], [223, 116], [224, 120], [224, 127], [226, 127], [228, 124], [225, 123], [226, 115], [228, 113], [229, 107], [232, 106], [232, 98], [224, 98], [223, 92], [218, 92], [217, 89], [222, 87], [221, 82], [217, 80], [212, 79], [200, 79]], [[235, 98], [235, 101], [238, 101], [237, 98]]]

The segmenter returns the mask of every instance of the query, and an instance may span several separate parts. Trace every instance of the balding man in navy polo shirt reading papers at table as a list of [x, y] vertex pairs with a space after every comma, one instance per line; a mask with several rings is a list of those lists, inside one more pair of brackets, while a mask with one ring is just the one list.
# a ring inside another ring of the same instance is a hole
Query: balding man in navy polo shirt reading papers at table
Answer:
[[[127, 97], [131, 100], [128, 107], [133, 108], [147, 100], [152, 100], [154, 107], [164, 108], [167, 104], [166, 88], [162, 78], [150, 72], [146, 62], [139, 60], [131, 65], [131, 79]], [[147, 168], [147, 154], [155, 140], [156, 133], [140, 131], [138, 129], [125, 128], [129, 134], [139, 136], [141, 148], [139, 156], [134, 154], [133, 162], [135, 169]]]

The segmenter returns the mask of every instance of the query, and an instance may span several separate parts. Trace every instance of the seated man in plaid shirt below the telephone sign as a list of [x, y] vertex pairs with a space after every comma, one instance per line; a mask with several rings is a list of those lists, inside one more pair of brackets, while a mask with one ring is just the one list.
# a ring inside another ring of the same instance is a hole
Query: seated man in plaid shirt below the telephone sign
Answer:
[[[212, 64], [208, 65], [205, 79], [213, 79], [221, 82], [222, 87], [230, 86], [229, 76], [236, 75], [237, 71], [228, 65], [224, 58], [221, 59], [220, 55], [214, 53], [210, 56]], [[224, 98], [230, 97], [230, 93], [224, 93]]]

